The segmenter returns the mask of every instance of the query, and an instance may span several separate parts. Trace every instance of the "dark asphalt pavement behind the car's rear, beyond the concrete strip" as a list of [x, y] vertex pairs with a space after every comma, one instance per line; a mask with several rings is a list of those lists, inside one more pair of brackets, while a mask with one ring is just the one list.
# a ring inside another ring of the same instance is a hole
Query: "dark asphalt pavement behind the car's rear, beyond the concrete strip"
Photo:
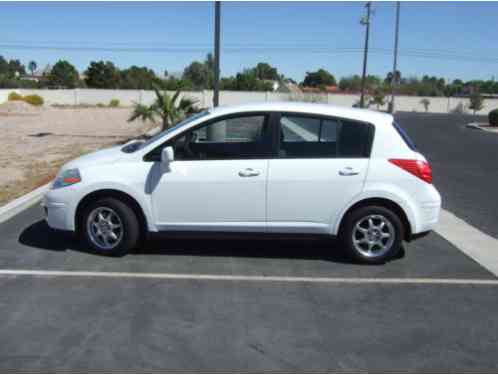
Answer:
[[498, 133], [465, 126], [487, 118], [399, 113], [396, 119], [430, 161], [443, 207], [498, 238]]

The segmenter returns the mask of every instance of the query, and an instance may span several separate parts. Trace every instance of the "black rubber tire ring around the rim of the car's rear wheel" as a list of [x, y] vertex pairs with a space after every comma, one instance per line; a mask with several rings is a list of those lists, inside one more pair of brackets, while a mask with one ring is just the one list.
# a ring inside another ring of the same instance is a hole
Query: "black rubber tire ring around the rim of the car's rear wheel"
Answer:
[[[358, 252], [355, 249], [352, 240], [353, 226], [358, 220], [368, 215], [385, 216], [392, 223], [395, 231], [395, 238], [391, 249], [384, 255], [375, 258], [366, 257]], [[341, 229], [340, 239], [349, 255], [351, 255], [356, 261], [368, 264], [379, 264], [385, 263], [387, 260], [394, 258], [398, 254], [402, 245], [403, 233], [403, 224], [396, 213], [388, 208], [381, 206], [366, 206], [355, 209], [350, 214], [348, 214]]]

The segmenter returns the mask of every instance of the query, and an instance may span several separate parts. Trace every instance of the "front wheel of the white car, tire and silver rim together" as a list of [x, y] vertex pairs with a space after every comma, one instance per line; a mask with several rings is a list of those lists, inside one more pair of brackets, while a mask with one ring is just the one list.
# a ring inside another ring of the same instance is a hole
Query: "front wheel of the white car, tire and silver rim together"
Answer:
[[86, 244], [98, 254], [107, 256], [127, 254], [140, 239], [137, 215], [127, 204], [115, 198], [99, 199], [85, 207], [79, 228]]

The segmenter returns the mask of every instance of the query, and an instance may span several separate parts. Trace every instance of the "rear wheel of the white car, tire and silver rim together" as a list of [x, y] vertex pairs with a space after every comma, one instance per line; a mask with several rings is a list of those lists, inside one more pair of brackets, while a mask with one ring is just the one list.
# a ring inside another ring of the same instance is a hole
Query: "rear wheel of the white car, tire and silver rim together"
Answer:
[[403, 224], [396, 213], [381, 206], [366, 206], [347, 215], [340, 240], [356, 261], [379, 264], [399, 253], [403, 233]]

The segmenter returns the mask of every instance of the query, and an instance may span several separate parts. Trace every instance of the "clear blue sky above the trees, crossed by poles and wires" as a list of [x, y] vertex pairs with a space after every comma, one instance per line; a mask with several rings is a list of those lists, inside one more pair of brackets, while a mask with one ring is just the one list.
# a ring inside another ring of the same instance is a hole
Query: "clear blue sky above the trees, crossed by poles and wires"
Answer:
[[[268, 62], [301, 81], [324, 68], [361, 74], [364, 2], [222, 2], [221, 75]], [[392, 70], [395, 3], [373, 2], [369, 74]], [[0, 3], [0, 55], [38, 66], [59, 59], [182, 72], [213, 49], [212, 2]], [[498, 78], [498, 2], [402, 2], [404, 77]]]

